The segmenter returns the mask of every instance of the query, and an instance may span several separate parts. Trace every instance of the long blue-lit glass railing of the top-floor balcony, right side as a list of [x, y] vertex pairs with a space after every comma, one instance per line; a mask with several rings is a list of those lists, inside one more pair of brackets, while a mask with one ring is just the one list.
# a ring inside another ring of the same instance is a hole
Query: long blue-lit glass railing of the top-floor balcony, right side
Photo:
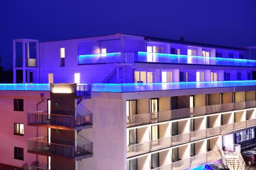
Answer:
[[137, 62], [255, 67], [255, 60], [138, 52]]

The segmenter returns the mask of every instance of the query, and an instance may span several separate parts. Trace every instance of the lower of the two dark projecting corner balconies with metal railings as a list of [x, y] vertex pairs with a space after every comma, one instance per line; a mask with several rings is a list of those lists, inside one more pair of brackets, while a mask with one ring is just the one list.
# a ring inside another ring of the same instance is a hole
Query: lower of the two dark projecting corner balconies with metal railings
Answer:
[[[59, 142], [65, 143], [60, 144]], [[78, 141], [78, 145], [66, 144], [65, 141], [58, 141], [58, 143], [49, 143], [47, 137], [39, 137], [28, 140], [28, 153], [38, 155], [59, 155], [74, 160], [82, 160], [84, 158], [92, 157], [93, 142], [89, 140]]]

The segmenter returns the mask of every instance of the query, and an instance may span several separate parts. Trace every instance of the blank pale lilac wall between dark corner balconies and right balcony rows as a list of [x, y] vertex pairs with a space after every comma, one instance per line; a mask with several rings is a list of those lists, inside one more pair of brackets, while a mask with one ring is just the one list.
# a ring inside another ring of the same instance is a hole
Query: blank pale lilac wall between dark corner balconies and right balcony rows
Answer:
[[93, 142], [93, 157], [78, 161], [77, 169], [126, 169], [125, 105], [119, 94], [101, 93], [77, 106], [93, 113], [93, 128], [78, 132]]

